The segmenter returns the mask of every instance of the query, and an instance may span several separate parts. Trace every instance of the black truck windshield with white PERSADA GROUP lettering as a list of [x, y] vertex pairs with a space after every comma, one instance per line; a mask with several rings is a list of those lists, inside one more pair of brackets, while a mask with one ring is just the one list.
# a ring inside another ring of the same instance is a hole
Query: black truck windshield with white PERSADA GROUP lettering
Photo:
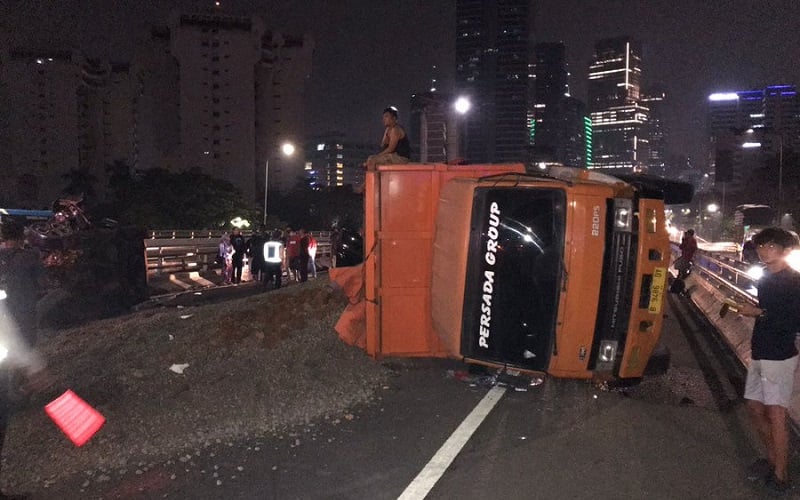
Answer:
[[464, 298], [464, 354], [548, 365], [561, 286], [564, 192], [478, 188]]

